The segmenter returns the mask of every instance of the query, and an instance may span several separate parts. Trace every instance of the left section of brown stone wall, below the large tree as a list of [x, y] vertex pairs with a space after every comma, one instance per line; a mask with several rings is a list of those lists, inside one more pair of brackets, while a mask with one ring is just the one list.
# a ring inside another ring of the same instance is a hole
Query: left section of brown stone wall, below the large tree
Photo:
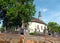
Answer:
[[0, 34], [0, 43], [23, 43], [23, 39], [19, 34]]

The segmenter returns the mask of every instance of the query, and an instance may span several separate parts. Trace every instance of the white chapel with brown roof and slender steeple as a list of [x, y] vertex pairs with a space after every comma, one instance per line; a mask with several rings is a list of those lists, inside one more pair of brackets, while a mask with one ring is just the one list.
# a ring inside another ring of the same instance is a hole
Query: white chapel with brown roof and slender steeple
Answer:
[[31, 22], [29, 22], [29, 32], [39, 32], [39, 33], [43, 33], [45, 29], [47, 29], [47, 24], [42, 21], [42, 16], [41, 16], [41, 12], [39, 12], [38, 18], [33, 18], [31, 20]]

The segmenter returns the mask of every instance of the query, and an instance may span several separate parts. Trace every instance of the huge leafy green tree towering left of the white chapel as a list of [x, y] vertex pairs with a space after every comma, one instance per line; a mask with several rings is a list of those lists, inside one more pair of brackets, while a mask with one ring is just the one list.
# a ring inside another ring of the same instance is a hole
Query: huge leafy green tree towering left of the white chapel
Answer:
[[5, 27], [22, 26], [35, 14], [34, 0], [0, 0]]

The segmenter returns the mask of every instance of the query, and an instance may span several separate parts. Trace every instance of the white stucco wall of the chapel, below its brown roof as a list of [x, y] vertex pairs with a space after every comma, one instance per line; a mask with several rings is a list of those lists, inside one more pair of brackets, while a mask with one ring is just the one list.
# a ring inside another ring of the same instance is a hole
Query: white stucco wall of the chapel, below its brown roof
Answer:
[[[37, 28], [38, 25], [39, 25], [39, 29]], [[41, 26], [42, 26], [42, 28], [41, 28]], [[37, 22], [29, 22], [28, 29], [29, 29], [30, 33], [34, 32], [35, 29], [36, 29], [37, 32], [38, 31], [43, 32], [44, 29], [45, 29], [44, 27], [46, 27], [46, 29], [47, 29], [47, 26], [45, 24], [40, 24], [40, 23], [37, 23]]]

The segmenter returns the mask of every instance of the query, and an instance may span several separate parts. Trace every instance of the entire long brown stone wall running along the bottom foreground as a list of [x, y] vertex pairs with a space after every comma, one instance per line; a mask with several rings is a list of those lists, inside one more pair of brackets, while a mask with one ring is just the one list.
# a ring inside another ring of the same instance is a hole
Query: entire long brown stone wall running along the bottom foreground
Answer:
[[60, 38], [50, 36], [25, 37], [19, 34], [0, 34], [0, 43], [60, 43]]

